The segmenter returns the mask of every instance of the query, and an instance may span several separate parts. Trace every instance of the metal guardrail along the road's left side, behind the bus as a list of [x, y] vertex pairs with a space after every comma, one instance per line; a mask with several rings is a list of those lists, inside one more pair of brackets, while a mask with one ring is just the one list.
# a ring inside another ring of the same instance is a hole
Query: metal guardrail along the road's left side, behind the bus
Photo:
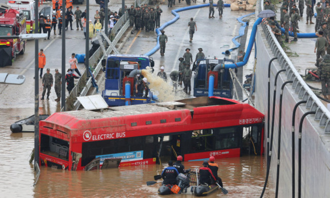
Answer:
[[[134, 5], [136, 5], [136, 2], [138, 2], [138, 5], [142, 4], [148, 4], [149, 0], [145, 0], [142, 3], [141, 0], [136, 0], [134, 2]], [[115, 38], [112, 41], [112, 45], [116, 46], [116, 44], [119, 42], [119, 39], [122, 37], [122, 35], [125, 33], [127, 28], [129, 27], [129, 20], [128, 20], [128, 11], [125, 12], [123, 17], [120, 17], [118, 22], [114, 25], [111, 32], [115, 32]], [[119, 31], [118, 31], [119, 30]], [[117, 32], [118, 31], [118, 32]], [[105, 46], [107, 44], [106, 41], [103, 42], [103, 45]], [[112, 52], [112, 48], [107, 49], [107, 54], [110, 54]], [[92, 74], [94, 76], [98, 75], [98, 72], [102, 69], [101, 61], [105, 58], [105, 55], [103, 54], [102, 48], [98, 48], [95, 53], [89, 58], [89, 65], [94, 68], [94, 71]], [[98, 61], [98, 62], [97, 62]], [[95, 66], [96, 64], [96, 66]], [[79, 78], [78, 83], [75, 85], [71, 93], [69, 94], [67, 100], [65, 100], [65, 110], [78, 110], [80, 106], [80, 102], [77, 100], [78, 96], [86, 96], [88, 90], [92, 86], [92, 78], [89, 77], [88, 81], [86, 82], [86, 70], [82, 73], [82, 77]]]

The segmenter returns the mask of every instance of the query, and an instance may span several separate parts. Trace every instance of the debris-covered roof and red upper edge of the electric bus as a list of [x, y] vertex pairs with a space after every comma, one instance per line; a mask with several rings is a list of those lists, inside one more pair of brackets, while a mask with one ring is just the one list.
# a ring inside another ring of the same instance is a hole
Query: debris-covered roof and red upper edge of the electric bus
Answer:
[[[103, 112], [57, 112], [40, 121], [40, 129], [45, 127], [79, 136], [83, 130], [132, 131], [146, 128], [146, 125], [148, 129], [152, 129], [205, 123], [211, 123], [213, 127], [257, 124], [262, 123], [263, 117], [262, 113], [246, 103], [220, 97], [197, 97], [173, 102], [110, 107]], [[73, 133], [72, 130], [80, 132]]]

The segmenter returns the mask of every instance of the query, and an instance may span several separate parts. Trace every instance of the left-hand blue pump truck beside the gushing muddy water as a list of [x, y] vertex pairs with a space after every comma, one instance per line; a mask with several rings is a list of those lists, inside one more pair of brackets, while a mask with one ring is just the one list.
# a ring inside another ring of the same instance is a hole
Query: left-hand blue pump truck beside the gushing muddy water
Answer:
[[[144, 55], [109, 55], [106, 64], [105, 90], [102, 97], [109, 106], [144, 104], [152, 101], [152, 93], [143, 97], [136, 94], [135, 84], [142, 79], [141, 69], [154, 66], [153, 60]], [[138, 78], [137, 74], [141, 77]]]

